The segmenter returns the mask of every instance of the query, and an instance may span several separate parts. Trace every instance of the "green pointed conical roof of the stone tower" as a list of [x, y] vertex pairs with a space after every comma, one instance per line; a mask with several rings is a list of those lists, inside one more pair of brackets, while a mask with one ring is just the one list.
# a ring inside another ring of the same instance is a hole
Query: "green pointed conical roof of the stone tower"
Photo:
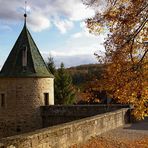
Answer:
[[[26, 49], [26, 53], [24, 52]], [[23, 56], [25, 54], [25, 66]], [[26, 26], [26, 20], [14, 47], [12, 48], [0, 77], [51, 77], [46, 64]]]

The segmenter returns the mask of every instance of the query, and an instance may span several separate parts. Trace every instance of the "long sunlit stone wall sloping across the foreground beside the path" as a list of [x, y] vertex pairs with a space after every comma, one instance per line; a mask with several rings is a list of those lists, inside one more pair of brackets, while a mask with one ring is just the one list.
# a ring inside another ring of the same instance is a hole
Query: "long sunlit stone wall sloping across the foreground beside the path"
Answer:
[[122, 126], [127, 121], [128, 109], [123, 108], [77, 121], [44, 128], [32, 133], [0, 140], [1, 148], [68, 148], [83, 143], [91, 136]]

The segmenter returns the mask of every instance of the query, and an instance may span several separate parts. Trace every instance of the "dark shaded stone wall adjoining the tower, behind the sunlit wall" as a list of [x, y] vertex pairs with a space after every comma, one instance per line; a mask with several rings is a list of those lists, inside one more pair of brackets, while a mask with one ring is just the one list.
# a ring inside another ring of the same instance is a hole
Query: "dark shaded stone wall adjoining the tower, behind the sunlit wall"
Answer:
[[129, 105], [54, 105], [42, 106], [41, 116], [43, 127], [49, 127], [69, 121], [94, 116], [100, 113], [110, 112], [121, 108], [129, 108]]

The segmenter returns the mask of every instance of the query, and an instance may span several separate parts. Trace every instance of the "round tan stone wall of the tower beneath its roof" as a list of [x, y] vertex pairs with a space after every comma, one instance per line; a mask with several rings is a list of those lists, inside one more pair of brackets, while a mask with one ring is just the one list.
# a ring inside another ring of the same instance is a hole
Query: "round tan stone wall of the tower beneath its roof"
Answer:
[[0, 94], [5, 94], [5, 106], [0, 106], [0, 138], [41, 128], [40, 106], [47, 92], [53, 104], [51, 78], [0, 78]]

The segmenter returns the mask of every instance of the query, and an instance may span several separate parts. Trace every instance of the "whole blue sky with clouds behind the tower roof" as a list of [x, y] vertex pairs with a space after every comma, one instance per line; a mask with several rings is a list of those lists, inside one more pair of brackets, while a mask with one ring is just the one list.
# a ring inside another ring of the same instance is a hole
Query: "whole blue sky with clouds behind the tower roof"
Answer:
[[[24, 23], [25, 0], [0, 0], [0, 67], [12, 49]], [[27, 26], [41, 52], [66, 67], [97, 63], [94, 52], [104, 49], [104, 35], [88, 33], [84, 21], [93, 9], [81, 0], [28, 0]]]

